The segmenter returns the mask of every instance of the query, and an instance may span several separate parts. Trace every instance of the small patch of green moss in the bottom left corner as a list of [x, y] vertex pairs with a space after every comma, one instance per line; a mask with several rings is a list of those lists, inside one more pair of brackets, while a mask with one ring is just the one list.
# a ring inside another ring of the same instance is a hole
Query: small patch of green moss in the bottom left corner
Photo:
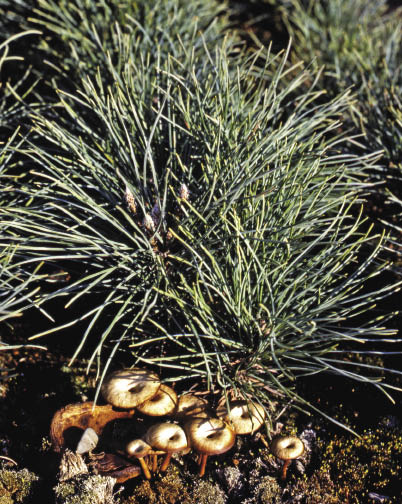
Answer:
[[38, 480], [39, 477], [28, 469], [20, 471], [1, 469], [0, 504], [27, 501], [32, 496], [34, 484]]

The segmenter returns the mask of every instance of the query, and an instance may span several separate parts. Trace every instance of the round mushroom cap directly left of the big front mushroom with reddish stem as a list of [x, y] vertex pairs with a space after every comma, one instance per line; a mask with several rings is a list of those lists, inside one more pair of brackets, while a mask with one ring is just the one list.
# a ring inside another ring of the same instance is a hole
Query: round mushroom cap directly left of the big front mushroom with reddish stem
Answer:
[[169, 453], [183, 451], [188, 447], [182, 427], [169, 422], [152, 425], [145, 434], [145, 440], [152, 448]]

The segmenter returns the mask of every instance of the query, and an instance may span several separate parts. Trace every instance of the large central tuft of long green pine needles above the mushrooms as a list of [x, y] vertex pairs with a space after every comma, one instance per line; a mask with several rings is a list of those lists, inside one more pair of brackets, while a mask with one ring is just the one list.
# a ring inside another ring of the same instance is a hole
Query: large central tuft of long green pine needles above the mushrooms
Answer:
[[[60, 59], [60, 101], [32, 113], [40, 141], [18, 149], [31, 167], [16, 181], [24, 204], [0, 215], [21, 271], [42, 272], [41, 286], [50, 270], [71, 277], [37, 294], [55, 323], [31, 339], [79, 330], [74, 357], [89, 347], [101, 377], [124, 351], [172, 381], [266, 405], [281, 396], [303, 407], [295, 379], [320, 372], [392, 388], [382, 368], [366, 376], [344, 354], [390, 334], [374, 311], [354, 320], [396, 288], [365, 288], [382, 269], [380, 240], [351, 207], [378, 155], [342, 154], [349, 94], [323, 103], [319, 74], [289, 70], [287, 54], [244, 51], [211, 23], [200, 33], [179, 1], [158, 2], [144, 25], [106, 23], [94, 47], [83, 3], [58, 2], [56, 16], [40, 2], [47, 27], [66, 24], [83, 69], [63, 86]], [[172, 10], [187, 19], [181, 32]], [[82, 17], [76, 32], [70, 13]], [[377, 246], [358, 263], [368, 241]]]

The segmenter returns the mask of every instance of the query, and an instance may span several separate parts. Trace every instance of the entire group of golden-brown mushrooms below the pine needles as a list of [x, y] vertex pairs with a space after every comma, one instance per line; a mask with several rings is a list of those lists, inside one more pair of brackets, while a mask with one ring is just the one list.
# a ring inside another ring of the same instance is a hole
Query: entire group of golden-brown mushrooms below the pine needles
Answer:
[[[55, 414], [51, 425], [55, 451], [62, 451], [63, 433], [69, 427], [85, 427], [76, 452], [89, 452], [91, 456], [98, 436], [111, 420], [132, 418], [135, 411], [150, 417], [169, 418], [168, 421], [152, 423], [140, 437], [128, 440], [122, 449], [116, 450], [119, 455], [110, 454], [105, 458], [102, 454], [104, 466], [116, 469], [116, 464], [120, 464], [115, 471], [118, 481], [125, 481], [140, 472], [150, 479], [151, 472], [158, 470], [159, 455], [163, 455], [159, 468], [163, 472], [174, 453], [187, 454], [190, 450], [198, 454], [199, 475], [203, 476], [209, 456], [230, 450], [236, 435], [254, 433], [265, 419], [260, 404], [242, 400], [224, 402], [211, 415], [211, 408], [204, 398], [190, 393], [178, 397], [171, 387], [161, 384], [156, 373], [144, 368], [123, 369], [110, 374], [102, 384], [101, 393], [108, 403], [105, 406], [95, 406], [91, 402], [69, 405]], [[282, 469], [282, 479], [285, 479], [290, 461], [304, 452], [304, 445], [297, 437], [279, 437], [274, 439], [271, 451], [285, 461]], [[96, 460], [100, 456], [93, 454], [91, 458]], [[127, 459], [138, 461], [140, 467], [125, 467], [124, 460]]]

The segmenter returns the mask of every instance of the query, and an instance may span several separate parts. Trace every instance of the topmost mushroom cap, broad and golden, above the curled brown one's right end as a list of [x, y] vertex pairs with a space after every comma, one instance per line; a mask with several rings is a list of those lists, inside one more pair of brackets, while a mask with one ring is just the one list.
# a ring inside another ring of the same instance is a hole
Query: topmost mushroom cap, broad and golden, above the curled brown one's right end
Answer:
[[156, 373], [144, 368], [120, 369], [107, 376], [101, 387], [102, 395], [116, 408], [135, 408], [153, 397], [159, 390]]

